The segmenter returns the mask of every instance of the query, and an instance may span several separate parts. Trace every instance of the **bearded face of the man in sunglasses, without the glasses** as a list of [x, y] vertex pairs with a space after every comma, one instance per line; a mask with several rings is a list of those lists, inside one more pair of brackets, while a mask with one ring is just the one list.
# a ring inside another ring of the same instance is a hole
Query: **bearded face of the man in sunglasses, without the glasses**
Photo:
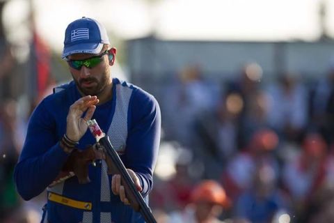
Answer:
[[[95, 54], [72, 54], [68, 56], [70, 60], [85, 60], [92, 56], [98, 56]], [[101, 62], [93, 68], [87, 68], [82, 66], [80, 70], [74, 69], [71, 66], [70, 72], [77, 84], [77, 87], [84, 95], [101, 95], [106, 90], [106, 86], [111, 84], [111, 75], [109, 71], [108, 55], [101, 57]]]

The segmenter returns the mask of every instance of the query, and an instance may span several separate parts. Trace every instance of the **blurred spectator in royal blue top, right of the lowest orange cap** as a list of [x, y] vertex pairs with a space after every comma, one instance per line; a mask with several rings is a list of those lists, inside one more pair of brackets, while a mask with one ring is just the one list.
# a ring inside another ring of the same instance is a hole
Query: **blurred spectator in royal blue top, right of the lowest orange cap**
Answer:
[[250, 222], [267, 223], [279, 211], [287, 210], [287, 202], [278, 190], [275, 175], [269, 164], [257, 167], [252, 187], [241, 194], [234, 206], [236, 217], [243, 217]]

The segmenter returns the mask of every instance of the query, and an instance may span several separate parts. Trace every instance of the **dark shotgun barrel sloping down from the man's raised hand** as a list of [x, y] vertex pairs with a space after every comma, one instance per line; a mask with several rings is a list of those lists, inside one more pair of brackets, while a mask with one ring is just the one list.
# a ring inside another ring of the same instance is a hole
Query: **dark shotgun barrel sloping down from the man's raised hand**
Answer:
[[125, 194], [127, 199], [129, 199], [132, 208], [136, 210], [136, 212], [141, 213], [145, 222], [157, 223], [157, 221], [154, 219], [154, 216], [152, 215], [150, 208], [141, 196], [141, 193], [136, 189], [134, 181], [129, 176], [129, 173], [127, 172], [127, 169], [125, 168], [122, 160], [120, 160], [118, 153], [111, 145], [108, 135], [102, 132], [95, 119], [88, 120], [87, 124], [90, 132], [92, 132], [97, 141], [97, 146], [100, 146], [100, 149], [103, 149], [106, 153], [108, 174], [120, 174], [121, 183], [125, 187]]

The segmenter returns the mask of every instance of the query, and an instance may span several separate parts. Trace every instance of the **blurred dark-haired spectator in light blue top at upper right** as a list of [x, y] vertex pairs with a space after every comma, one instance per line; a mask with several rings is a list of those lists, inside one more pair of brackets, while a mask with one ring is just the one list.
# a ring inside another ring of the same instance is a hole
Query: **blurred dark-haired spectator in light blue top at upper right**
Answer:
[[299, 140], [308, 118], [308, 94], [295, 76], [286, 73], [269, 87], [269, 124], [290, 141]]

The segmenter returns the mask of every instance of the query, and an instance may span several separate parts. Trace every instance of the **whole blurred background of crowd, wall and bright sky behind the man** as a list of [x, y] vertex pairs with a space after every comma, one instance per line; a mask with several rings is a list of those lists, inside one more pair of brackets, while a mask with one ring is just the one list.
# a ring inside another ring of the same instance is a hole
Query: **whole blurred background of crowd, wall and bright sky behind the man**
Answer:
[[161, 106], [158, 222], [203, 205], [223, 222], [334, 221], [334, 0], [0, 0], [0, 15], [0, 222], [40, 221], [46, 194], [22, 201], [13, 168], [31, 112], [71, 79], [63, 38], [82, 16], [118, 49], [113, 76]]

